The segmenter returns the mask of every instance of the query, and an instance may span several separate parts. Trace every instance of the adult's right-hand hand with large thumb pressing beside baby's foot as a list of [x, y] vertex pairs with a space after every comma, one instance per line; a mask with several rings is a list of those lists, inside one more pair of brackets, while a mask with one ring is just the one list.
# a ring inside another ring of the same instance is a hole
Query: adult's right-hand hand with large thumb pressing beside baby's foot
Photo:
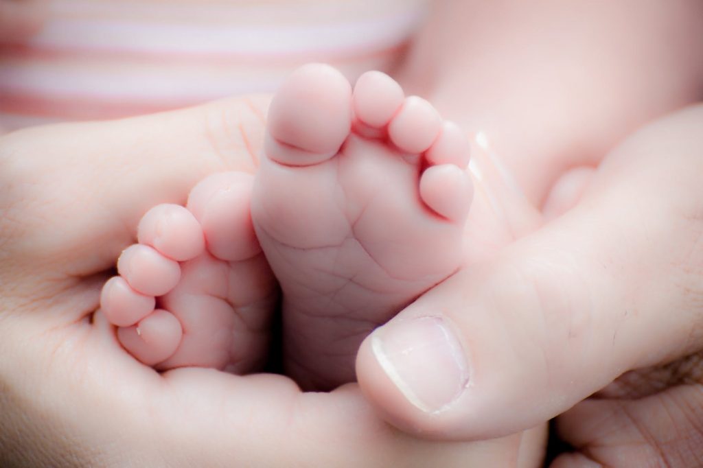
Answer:
[[557, 425], [581, 455], [561, 466], [702, 464], [702, 128], [699, 105], [641, 129], [574, 209], [376, 330], [357, 360], [364, 393], [444, 439], [574, 407]]

